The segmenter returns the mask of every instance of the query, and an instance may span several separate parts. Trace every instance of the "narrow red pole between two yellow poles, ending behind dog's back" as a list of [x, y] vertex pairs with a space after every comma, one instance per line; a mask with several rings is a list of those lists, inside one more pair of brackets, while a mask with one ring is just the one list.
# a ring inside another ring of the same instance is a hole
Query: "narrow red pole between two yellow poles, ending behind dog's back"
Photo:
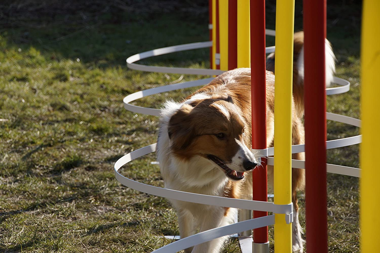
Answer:
[[228, 70], [237, 68], [237, 0], [228, 1]]

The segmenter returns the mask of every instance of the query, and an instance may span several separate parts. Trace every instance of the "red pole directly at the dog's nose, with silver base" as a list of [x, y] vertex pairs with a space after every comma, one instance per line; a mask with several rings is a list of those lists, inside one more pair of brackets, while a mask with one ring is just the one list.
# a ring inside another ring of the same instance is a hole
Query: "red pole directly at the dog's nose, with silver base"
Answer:
[[[265, 0], [250, 0], [250, 13], [252, 148], [266, 149]], [[252, 172], [253, 200], [268, 201], [267, 159], [261, 161], [262, 168]], [[266, 215], [253, 211], [253, 218]], [[253, 229], [253, 242], [268, 242], [268, 226]]]

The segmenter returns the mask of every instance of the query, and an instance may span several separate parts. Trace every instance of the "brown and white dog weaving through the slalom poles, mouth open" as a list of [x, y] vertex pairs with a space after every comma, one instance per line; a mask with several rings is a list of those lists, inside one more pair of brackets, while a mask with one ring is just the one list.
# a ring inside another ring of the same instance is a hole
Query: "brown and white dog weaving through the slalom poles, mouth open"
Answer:
[[[274, 53], [267, 58], [267, 143], [274, 138]], [[293, 145], [304, 143], [303, 33], [294, 34]], [[335, 71], [335, 56], [326, 40], [326, 84]], [[251, 170], [258, 166], [250, 151], [251, 91], [250, 69], [227, 71], [181, 103], [167, 101], [162, 109], [157, 156], [165, 188], [205, 195], [252, 199]], [[252, 121], [259, 121], [253, 118]], [[304, 160], [304, 153], [292, 159]], [[268, 166], [269, 187], [273, 167]], [[302, 252], [298, 222], [297, 190], [304, 187], [304, 170], [292, 169], [294, 206], [293, 250]], [[171, 200], [178, 216], [181, 238], [199, 229], [206, 231], [233, 222], [236, 210]], [[186, 253], [217, 253], [227, 237], [185, 250]]]

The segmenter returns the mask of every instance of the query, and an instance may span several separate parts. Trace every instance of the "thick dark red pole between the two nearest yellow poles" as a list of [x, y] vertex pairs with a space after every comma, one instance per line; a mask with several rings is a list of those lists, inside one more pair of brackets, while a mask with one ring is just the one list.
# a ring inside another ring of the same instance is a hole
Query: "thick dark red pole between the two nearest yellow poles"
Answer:
[[327, 253], [326, 0], [304, 0], [307, 253]]

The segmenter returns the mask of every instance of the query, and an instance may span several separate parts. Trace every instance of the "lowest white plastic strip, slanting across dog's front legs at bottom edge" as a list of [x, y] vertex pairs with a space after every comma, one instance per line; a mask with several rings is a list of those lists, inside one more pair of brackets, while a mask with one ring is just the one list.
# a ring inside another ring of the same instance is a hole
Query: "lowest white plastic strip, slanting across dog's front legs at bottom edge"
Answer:
[[227, 226], [222, 226], [214, 229], [210, 229], [193, 236], [180, 239], [176, 242], [172, 242], [152, 253], [175, 253], [185, 248], [189, 248], [203, 242], [208, 242], [222, 236], [228, 236], [233, 233], [239, 233], [254, 228], [261, 228], [263, 226], [269, 226], [274, 224], [274, 215], [268, 215], [252, 220], [245, 220], [243, 222], [234, 223]]

